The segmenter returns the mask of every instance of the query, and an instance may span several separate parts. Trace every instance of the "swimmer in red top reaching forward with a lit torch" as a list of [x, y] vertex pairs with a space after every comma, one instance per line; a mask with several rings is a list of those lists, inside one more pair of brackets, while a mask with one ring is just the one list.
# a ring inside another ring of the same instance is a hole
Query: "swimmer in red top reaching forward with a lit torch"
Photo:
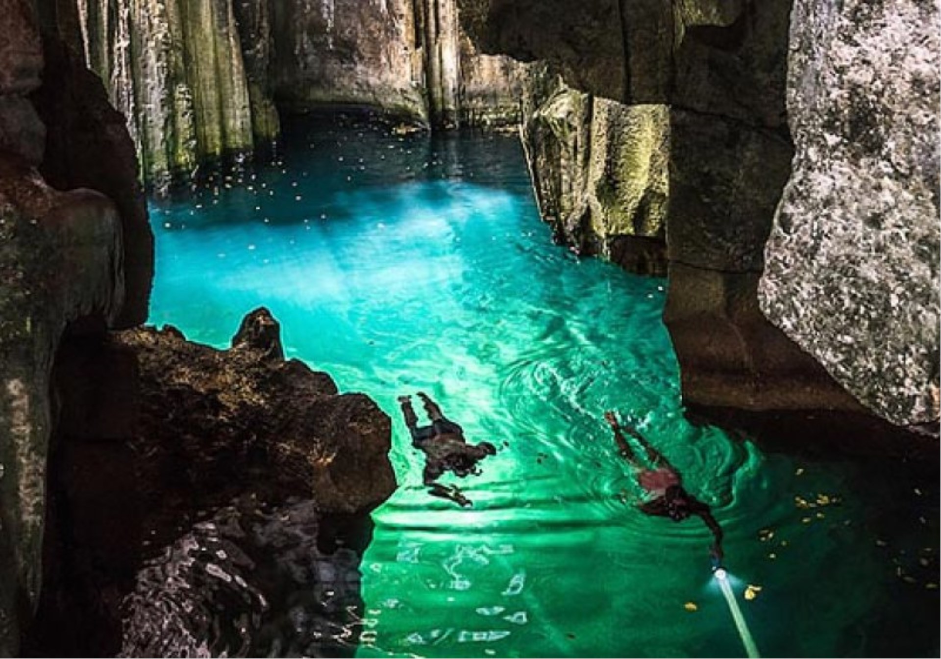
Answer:
[[690, 515], [697, 515], [706, 522], [715, 542], [710, 547], [713, 564], [718, 567], [722, 563], [722, 528], [719, 522], [715, 521], [710, 511], [710, 506], [696, 499], [688, 491], [683, 490], [682, 478], [677, 469], [663, 457], [663, 454], [654, 448], [650, 442], [647, 442], [634, 428], [627, 426], [627, 431], [631, 437], [636, 439], [644, 447], [646, 458], [650, 461], [652, 467], [645, 467], [637, 459], [630, 444], [621, 433], [621, 426], [617, 423], [617, 417], [614, 412], [604, 413], [605, 421], [614, 430], [614, 441], [621, 457], [630, 462], [636, 470], [637, 482], [647, 492], [649, 498], [638, 506], [642, 512], [647, 515], [658, 517], [669, 517], [674, 522], [682, 522]]

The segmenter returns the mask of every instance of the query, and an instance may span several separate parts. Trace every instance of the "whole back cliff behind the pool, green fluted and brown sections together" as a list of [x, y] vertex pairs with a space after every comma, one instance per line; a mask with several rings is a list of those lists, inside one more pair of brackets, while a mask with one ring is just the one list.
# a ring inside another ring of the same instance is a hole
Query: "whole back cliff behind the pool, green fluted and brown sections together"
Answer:
[[518, 120], [522, 67], [477, 53], [455, 0], [70, 3], [88, 66], [158, 185], [270, 143], [279, 109], [368, 106], [442, 127]]

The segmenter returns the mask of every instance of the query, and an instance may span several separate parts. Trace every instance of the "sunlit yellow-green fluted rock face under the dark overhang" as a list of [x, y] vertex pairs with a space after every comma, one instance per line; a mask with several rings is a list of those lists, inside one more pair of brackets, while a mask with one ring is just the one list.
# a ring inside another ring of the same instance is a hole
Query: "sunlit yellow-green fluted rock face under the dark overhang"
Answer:
[[542, 217], [583, 255], [666, 274], [669, 112], [626, 105], [530, 75], [523, 145]]

